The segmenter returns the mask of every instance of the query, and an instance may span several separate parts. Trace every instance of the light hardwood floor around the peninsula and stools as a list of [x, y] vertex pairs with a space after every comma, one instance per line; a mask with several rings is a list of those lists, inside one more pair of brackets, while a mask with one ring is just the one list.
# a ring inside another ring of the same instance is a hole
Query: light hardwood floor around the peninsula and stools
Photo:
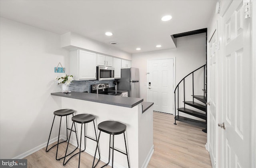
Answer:
[[[176, 122], [174, 116], [154, 112], [154, 154], [148, 168], [211, 168], [209, 153], [205, 149], [206, 134], [202, 128], [183, 122]], [[66, 142], [59, 146], [60, 156], [64, 156]], [[70, 149], [72, 150], [72, 149]], [[27, 156], [28, 168], [76, 168], [78, 155], [74, 156], [66, 166], [63, 159], [55, 160], [56, 148], [45, 152], [45, 148]], [[86, 152], [81, 153], [81, 168], [91, 168], [93, 157]], [[103, 166], [99, 162], [97, 168]], [[110, 166], [107, 166], [110, 167]]]

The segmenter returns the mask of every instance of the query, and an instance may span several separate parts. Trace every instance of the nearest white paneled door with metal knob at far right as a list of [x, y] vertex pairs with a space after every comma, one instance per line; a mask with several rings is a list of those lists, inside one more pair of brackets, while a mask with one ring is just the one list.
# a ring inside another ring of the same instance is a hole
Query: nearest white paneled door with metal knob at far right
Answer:
[[[233, 0], [222, 18], [223, 162], [225, 168], [251, 167], [250, 23], [244, 3]], [[255, 19], [255, 18], [254, 18]], [[254, 142], [255, 143], [255, 142]]]

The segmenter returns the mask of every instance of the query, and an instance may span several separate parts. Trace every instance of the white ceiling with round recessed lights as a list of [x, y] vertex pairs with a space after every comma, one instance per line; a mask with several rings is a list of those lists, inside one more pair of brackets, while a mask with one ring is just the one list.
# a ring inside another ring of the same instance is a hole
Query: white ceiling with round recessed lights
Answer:
[[[206, 28], [215, 4], [216, 0], [0, 0], [0, 16], [60, 35], [76, 32], [108, 45], [118, 42], [115, 47], [134, 54], [175, 48], [170, 35]], [[164, 15], [172, 20], [162, 22]], [[113, 36], [106, 36], [107, 31]]]

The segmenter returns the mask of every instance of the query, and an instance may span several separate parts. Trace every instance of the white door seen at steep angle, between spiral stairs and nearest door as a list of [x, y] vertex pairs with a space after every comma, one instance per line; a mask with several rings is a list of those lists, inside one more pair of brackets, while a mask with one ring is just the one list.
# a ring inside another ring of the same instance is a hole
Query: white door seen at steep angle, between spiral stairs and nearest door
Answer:
[[217, 28], [214, 31], [210, 42], [208, 42], [208, 55], [207, 55], [207, 100], [210, 102], [210, 106], [207, 106], [208, 112], [208, 151], [212, 161], [212, 167], [216, 167], [216, 71], [217, 71], [217, 58], [218, 58], [218, 47], [217, 47]]

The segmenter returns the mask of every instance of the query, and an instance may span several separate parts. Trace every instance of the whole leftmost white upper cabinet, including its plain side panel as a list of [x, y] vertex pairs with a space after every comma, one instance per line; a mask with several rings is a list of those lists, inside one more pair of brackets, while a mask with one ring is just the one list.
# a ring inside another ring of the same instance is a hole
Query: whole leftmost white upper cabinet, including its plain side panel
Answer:
[[70, 51], [70, 75], [74, 80], [96, 80], [97, 54], [84, 51]]

